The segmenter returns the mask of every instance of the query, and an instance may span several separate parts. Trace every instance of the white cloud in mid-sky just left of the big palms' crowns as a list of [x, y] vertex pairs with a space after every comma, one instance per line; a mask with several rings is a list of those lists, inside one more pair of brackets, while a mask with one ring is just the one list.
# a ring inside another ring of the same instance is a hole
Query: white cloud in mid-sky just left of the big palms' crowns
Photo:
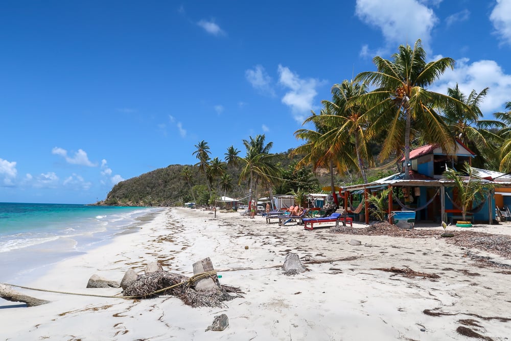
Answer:
[[317, 95], [316, 87], [324, 83], [314, 78], [301, 79], [288, 67], [278, 65], [278, 82], [288, 88], [288, 92], [282, 98], [282, 103], [291, 107], [294, 119], [303, 123], [305, 115], [314, 109], [314, 98]]

